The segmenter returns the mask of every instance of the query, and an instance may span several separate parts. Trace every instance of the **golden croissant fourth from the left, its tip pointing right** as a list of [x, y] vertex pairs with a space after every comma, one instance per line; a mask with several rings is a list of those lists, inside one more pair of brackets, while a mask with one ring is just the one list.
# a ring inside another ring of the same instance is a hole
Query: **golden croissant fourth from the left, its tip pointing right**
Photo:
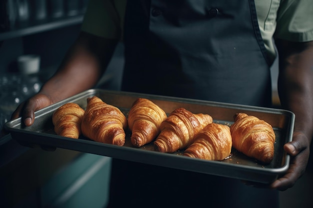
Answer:
[[213, 119], [207, 114], [193, 114], [184, 108], [177, 108], [160, 125], [160, 134], [154, 141], [154, 149], [172, 153], [186, 148], [192, 139]]

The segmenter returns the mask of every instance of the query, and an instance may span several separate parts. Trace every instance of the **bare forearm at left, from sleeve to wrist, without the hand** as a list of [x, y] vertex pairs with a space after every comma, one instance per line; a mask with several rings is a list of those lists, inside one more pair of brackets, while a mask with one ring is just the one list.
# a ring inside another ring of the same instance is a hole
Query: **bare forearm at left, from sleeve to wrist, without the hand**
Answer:
[[54, 103], [93, 87], [109, 63], [115, 45], [114, 40], [81, 34], [39, 93]]

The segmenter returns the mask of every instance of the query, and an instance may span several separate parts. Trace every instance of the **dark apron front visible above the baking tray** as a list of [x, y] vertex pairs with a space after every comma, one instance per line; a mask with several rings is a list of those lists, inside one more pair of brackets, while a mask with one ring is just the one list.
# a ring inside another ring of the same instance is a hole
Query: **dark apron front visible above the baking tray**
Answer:
[[253, 0], [147, 2], [126, 7], [122, 90], [271, 105]]

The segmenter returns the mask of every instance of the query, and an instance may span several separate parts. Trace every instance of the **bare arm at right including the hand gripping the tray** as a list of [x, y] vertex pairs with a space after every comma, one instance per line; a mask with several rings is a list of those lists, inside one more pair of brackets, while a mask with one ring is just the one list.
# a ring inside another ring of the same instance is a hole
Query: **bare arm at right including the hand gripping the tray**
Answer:
[[291, 156], [286, 174], [270, 187], [291, 188], [304, 172], [313, 136], [313, 41], [275, 40], [279, 54], [278, 93], [282, 108], [295, 114], [292, 142], [284, 145]]

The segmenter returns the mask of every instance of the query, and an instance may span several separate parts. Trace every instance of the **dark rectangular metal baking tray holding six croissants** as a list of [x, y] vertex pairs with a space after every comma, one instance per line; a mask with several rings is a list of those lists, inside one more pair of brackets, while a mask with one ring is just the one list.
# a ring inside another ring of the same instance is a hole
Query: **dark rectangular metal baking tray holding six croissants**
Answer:
[[[182, 151], [160, 153], [153, 150], [152, 143], [139, 148], [133, 147], [130, 143], [131, 132], [128, 129], [126, 130], [126, 142], [122, 147], [94, 142], [84, 136], [80, 136], [78, 139], [57, 136], [53, 131], [52, 113], [59, 106], [68, 102], [77, 103], [85, 109], [87, 98], [92, 96], [97, 96], [107, 104], [118, 107], [126, 117], [132, 103], [138, 97], [150, 99], [168, 114], [176, 108], [183, 107], [192, 113], [209, 114], [212, 116], [213, 122], [226, 125], [233, 123], [233, 115], [238, 112], [256, 116], [268, 122], [274, 129], [276, 135], [274, 158], [270, 164], [264, 165], [244, 156], [235, 149], [232, 149], [230, 156], [223, 161], [188, 158], [182, 156]], [[289, 167], [289, 156], [284, 152], [283, 145], [292, 140], [293, 124], [294, 114], [285, 110], [90, 89], [35, 112], [35, 121], [30, 127], [25, 127], [21, 122], [21, 118], [18, 118], [7, 122], [5, 128], [11, 133], [13, 139], [24, 146], [63, 148], [156, 166], [268, 184], [280, 174], [283, 174]]]

